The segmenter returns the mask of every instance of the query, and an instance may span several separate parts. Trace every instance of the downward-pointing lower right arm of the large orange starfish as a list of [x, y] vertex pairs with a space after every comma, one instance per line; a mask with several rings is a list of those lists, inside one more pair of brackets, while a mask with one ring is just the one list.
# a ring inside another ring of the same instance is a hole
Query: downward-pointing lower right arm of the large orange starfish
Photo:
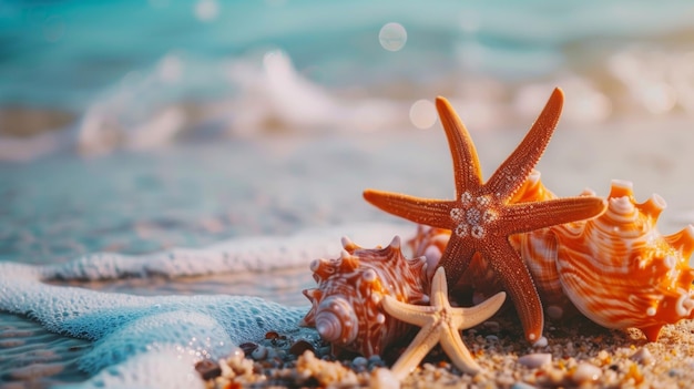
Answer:
[[523, 259], [508, 240], [502, 245], [488, 246], [483, 255], [490, 260], [504, 290], [511, 296], [525, 331], [525, 339], [531, 344], [539, 341], [544, 327], [544, 313], [538, 289]]

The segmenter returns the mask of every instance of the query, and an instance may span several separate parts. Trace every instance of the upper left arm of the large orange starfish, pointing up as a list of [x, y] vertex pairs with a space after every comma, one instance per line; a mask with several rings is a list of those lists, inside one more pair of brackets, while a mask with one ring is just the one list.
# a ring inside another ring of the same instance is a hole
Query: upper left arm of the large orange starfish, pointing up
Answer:
[[466, 188], [482, 185], [482, 168], [470, 133], [448, 100], [441, 96], [437, 98], [436, 109], [439, 111], [450, 153], [453, 157], [456, 195], [459, 197]]

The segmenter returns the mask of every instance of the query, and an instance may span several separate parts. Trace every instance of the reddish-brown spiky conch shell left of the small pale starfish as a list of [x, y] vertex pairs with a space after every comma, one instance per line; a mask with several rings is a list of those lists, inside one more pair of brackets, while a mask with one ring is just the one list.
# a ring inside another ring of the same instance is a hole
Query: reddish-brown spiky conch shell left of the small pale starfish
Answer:
[[348, 238], [343, 238], [343, 247], [339, 258], [310, 264], [318, 287], [304, 290], [312, 308], [299, 325], [316, 327], [334, 355], [341, 350], [381, 355], [410, 325], [392, 319], [380, 301], [389, 295], [428, 304], [426, 259], [406, 259], [398, 236], [385, 248], [361, 248]]

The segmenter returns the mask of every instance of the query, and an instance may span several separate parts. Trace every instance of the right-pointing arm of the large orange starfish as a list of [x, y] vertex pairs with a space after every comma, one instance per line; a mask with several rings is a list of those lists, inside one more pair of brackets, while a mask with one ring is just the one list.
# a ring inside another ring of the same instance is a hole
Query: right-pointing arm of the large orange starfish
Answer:
[[608, 203], [602, 197], [578, 196], [538, 203], [510, 204], [504, 208], [503, 234], [527, 233], [558, 224], [582, 221], [600, 215]]

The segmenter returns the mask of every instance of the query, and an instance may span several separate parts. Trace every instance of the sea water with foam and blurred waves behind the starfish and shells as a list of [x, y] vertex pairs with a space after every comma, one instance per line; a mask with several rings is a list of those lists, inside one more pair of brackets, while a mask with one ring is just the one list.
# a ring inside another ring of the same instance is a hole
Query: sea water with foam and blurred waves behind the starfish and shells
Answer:
[[543, 182], [629, 180], [664, 233], [694, 223], [693, 25], [681, 1], [0, 0], [0, 386], [190, 387], [242, 319], [290, 330], [340, 236], [414, 235], [364, 188], [452, 195], [436, 95], [489, 176], [561, 86]]

